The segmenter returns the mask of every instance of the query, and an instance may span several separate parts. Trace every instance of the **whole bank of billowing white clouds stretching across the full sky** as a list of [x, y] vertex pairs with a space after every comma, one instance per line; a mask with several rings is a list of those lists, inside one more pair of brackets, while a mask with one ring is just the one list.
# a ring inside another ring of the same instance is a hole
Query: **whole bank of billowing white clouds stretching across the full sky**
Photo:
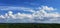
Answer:
[[[9, 7], [9, 9], [21, 9], [20, 7]], [[13, 9], [13, 10], [14, 10]], [[38, 22], [38, 23], [53, 23], [55, 21], [59, 22], [58, 20], [60, 17], [60, 14], [58, 12], [51, 12], [51, 13], [47, 13], [47, 11], [54, 11], [55, 8], [53, 7], [48, 7], [48, 6], [42, 6], [38, 8], [38, 11], [35, 11], [33, 9], [27, 9], [27, 8], [22, 8], [21, 10], [24, 11], [30, 11], [33, 12], [32, 14], [25, 14], [25, 13], [16, 13], [13, 14], [12, 11], [9, 11], [8, 13], [6, 13], [5, 15], [0, 15], [0, 19], [20, 19], [23, 22]], [[6, 10], [6, 9], [5, 9]], [[45, 11], [46, 10], [46, 11]], [[22, 22], [21, 21], [21, 22]]]

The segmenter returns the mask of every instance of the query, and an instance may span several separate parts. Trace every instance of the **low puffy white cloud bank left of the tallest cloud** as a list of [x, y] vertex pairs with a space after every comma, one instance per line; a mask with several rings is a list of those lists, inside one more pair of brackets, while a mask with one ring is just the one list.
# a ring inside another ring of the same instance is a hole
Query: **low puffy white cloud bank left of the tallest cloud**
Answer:
[[30, 14], [24, 14], [24, 13], [17, 13], [17, 14], [13, 14], [12, 11], [9, 11], [8, 13], [6, 13], [5, 15], [1, 15], [1, 18], [12, 18], [12, 19], [24, 19], [24, 18], [32, 18], [32, 15]]

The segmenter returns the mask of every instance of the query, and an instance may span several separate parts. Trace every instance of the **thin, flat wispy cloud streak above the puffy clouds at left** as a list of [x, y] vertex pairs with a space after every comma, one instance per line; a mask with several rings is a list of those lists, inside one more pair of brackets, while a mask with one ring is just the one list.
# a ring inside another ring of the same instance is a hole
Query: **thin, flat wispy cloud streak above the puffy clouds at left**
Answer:
[[31, 8], [27, 8], [27, 7], [6, 7], [4, 6], [4, 8], [0, 8], [0, 10], [23, 10], [23, 11], [28, 11], [28, 12], [35, 12], [33, 9]]

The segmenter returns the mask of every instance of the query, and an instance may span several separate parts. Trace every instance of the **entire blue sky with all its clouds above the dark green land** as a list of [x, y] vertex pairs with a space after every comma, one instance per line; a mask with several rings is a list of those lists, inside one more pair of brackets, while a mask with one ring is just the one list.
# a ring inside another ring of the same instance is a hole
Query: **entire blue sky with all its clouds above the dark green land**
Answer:
[[60, 23], [60, 0], [0, 0], [1, 23]]

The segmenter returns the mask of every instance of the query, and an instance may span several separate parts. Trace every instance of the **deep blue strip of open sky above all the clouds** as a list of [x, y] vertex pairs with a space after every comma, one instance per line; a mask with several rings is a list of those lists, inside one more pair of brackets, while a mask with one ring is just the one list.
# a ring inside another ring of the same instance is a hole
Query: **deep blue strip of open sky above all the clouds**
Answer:
[[0, 0], [0, 6], [24, 6], [34, 8], [42, 5], [60, 9], [60, 0]]

